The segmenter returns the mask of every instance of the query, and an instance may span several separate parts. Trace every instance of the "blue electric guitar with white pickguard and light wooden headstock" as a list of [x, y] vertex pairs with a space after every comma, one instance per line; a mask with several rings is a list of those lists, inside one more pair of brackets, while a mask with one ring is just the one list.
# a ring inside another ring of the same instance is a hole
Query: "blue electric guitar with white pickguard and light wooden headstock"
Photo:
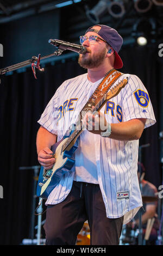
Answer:
[[[120, 90], [126, 86], [128, 78], [111, 87], [108, 93], [105, 93], [102, 99], [97, 103], [93, 109], [93, 113], [99, 111], [106, 101], [115, 97]], [[41, 167], [39, 180], [37, 182], [36, 194], [43, 199], [47, 199], [51, 191], [59, 183], [61, 176], [65, 173], [71, 173], [71, 168], [74, 165], [73, 154], [77, 150], [77, 138], [83, 132], [82, 120], [80, 118], [79, 124], [74, 126], [75, 129], [71, 131], [69, 136], [64, 136], [59, 142], [52, 146], [52, 151], [55, 157], [55, 163], [52, 169], [44, 169]]]

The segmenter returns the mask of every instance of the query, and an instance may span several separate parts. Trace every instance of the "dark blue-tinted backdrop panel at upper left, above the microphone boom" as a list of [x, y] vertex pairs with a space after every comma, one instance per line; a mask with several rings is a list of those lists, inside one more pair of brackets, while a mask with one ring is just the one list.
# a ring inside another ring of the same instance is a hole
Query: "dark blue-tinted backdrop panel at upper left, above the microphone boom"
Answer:
[[0, 68], [24, 62], [39, 53], [41, 57], [52, 53], [52, 45], [48, 44], [48, 40], [59, 38], [59, 19], [60, 10], [57, 9], [0, 23], [0, 43], [3, 44], [4, 56], [0, 58]]

